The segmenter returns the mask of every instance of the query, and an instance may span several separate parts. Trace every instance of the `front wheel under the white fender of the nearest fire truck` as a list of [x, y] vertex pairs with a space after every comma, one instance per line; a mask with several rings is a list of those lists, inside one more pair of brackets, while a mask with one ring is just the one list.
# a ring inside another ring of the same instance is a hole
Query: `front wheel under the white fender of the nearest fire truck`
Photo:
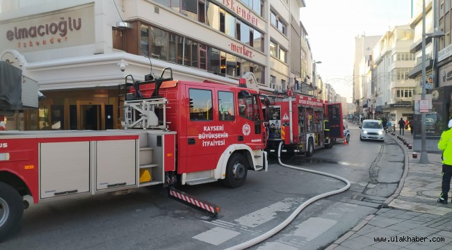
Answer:
[[223, 181], [228, 188], [239, 188], [245, 183], [248, 174], [248, 162], [246, 158], [239, 153], [234, 153], [226, 166], [226, 178]]

